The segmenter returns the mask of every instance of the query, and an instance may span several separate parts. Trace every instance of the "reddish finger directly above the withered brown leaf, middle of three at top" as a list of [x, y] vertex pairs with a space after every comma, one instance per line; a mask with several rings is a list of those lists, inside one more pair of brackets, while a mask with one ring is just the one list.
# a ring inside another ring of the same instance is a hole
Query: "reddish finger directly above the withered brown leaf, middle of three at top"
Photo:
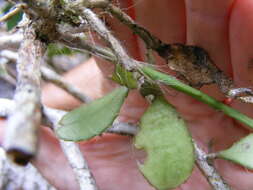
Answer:
[[215, 64], [226, 73], [231, 73], [228, 20], [233, 1], [185, 0], [187, 43], [206, 49]]

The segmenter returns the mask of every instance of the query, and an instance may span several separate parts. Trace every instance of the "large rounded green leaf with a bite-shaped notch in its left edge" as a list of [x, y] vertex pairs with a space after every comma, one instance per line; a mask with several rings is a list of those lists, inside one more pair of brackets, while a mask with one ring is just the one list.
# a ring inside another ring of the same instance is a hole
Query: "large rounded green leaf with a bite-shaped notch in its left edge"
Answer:
[[139, 169], [159, 190], [178, 187], [191, 175], [194, 148], [183, 119], [164, 98], [158, 97], [141, 118], [135, 146], [147, 152]]

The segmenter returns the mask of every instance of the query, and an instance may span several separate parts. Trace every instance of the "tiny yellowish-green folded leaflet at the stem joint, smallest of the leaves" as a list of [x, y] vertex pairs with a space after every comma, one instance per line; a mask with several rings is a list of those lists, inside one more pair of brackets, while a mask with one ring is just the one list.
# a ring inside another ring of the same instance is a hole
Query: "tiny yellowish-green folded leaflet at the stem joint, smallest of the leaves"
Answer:
[[133, 73], [127, 71], [120, 64], [116, 64], [115, 71], [112, 75], [112, 80], [120, 85], [127, 86], [130, 89], [137, 88], [137, 80], [134, 78]]

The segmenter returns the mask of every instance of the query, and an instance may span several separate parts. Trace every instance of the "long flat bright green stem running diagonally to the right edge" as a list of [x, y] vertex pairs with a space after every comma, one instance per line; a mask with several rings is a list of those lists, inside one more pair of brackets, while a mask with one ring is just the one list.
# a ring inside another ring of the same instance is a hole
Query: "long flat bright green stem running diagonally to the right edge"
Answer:
[[201, 102], [204, 102], [204, 103], [210, 105], [211, 107], [224, 112], [226, 115], [248, 125], [250, 128], [253, 128], [253, 119], [251, 119], [250, 117], [242, 114], [241, 112], [239, 112], [229, 106], [226, 106], [225, 104], [215, 100], [211, 96], [208, 96], [208, 95], [204, 94], [203, 92], [196, 90], [195, 88], [192, 88], [192, 87], [180, 82], [179, 80], [175, 79], [174, 77], [166, 75], [166, 74], [161, 73], [159, 71], [156, 71], [153, 68], [148, 67], [148, 66], [141, 67], [140, 71], [142, 71], [144, 74], [146, 74], [152, 80], [162, 82], [162, 83], [164, 83], [164, 84], [166, 84], [166, 85], [168, 85], [180, 92], [188, 94], [188, 95], [192, 96], [193, 98], [195, 98]]

